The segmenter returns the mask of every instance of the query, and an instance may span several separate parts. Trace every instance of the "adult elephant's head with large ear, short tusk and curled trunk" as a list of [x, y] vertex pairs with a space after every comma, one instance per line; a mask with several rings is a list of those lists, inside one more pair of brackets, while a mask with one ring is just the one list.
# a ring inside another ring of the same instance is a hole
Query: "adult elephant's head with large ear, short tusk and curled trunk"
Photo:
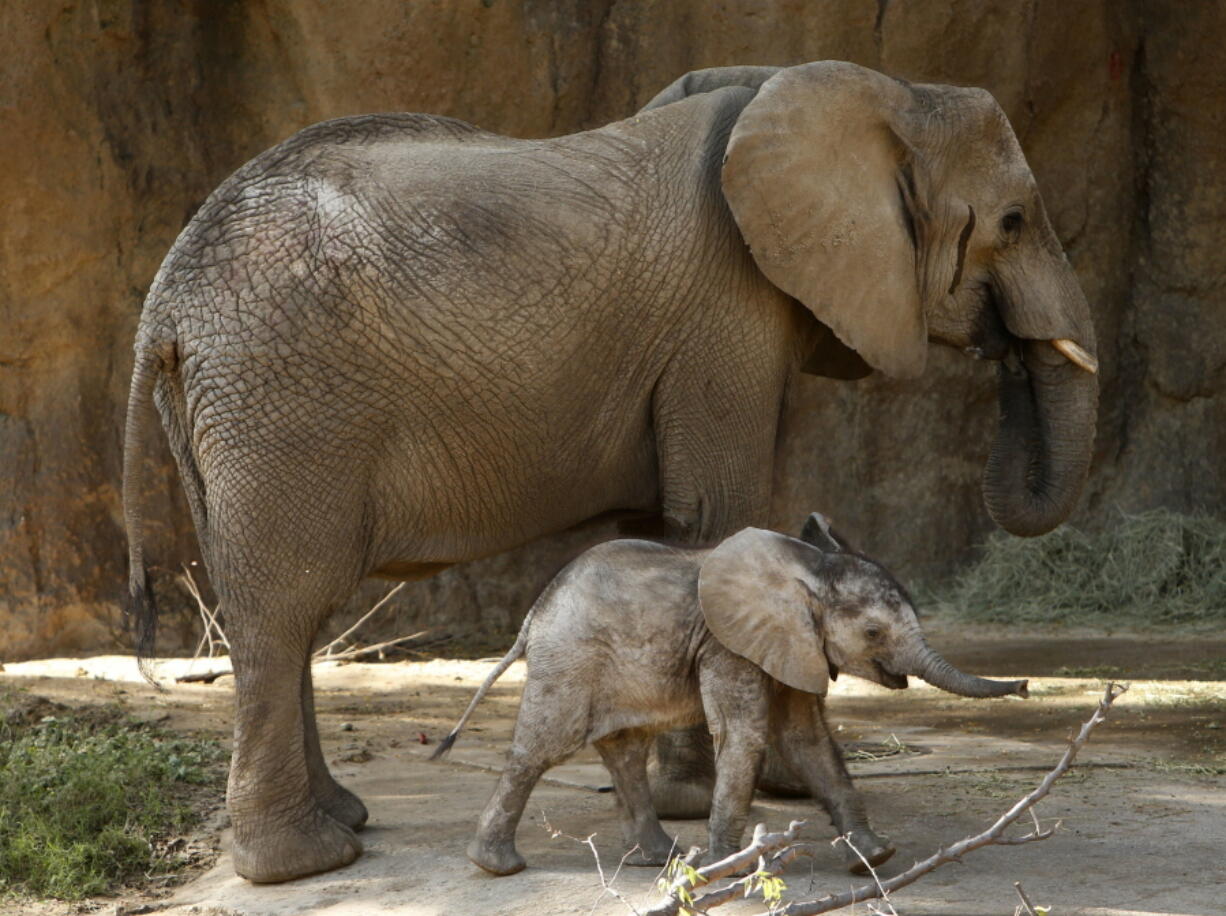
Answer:
[[841, 61], [701, 71], [658, 104], [723, 72], [759, 87], [723, 164], [759, 269], [889, 375], [928, 341], [1000, 361], [984, 502], [1016, 535], [1058, 525], [1094, 444], [1094, 325], [1000, 107]]

